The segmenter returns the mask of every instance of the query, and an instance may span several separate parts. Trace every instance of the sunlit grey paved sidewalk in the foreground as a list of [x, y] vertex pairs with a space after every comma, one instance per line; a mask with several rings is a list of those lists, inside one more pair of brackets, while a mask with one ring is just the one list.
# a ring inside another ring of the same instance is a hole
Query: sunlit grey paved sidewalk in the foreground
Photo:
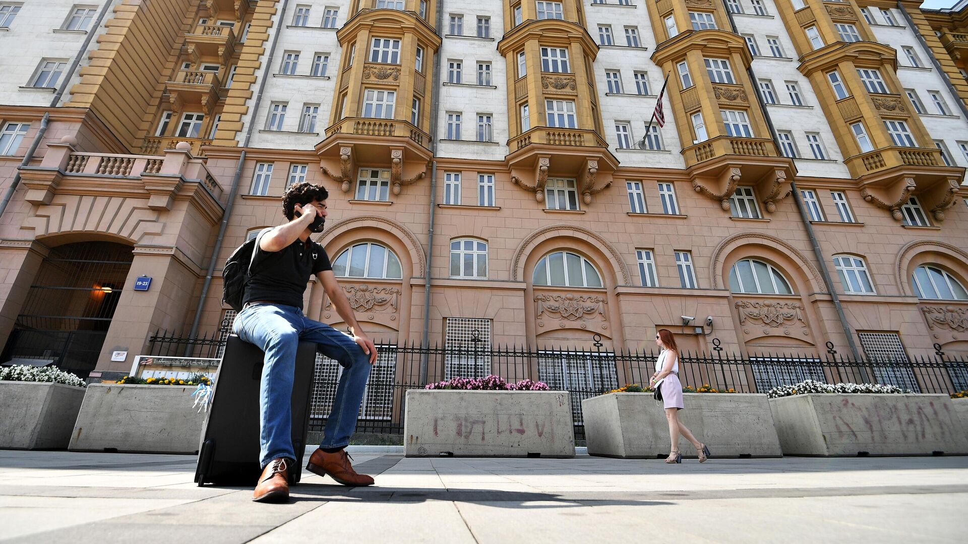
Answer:
[[0, 451], [0, 541], [880, 544], [968, 531], [965, 457], [354, 457], [377, 486], [310, 473], [277, 505], [198, 488], [190, 456]]

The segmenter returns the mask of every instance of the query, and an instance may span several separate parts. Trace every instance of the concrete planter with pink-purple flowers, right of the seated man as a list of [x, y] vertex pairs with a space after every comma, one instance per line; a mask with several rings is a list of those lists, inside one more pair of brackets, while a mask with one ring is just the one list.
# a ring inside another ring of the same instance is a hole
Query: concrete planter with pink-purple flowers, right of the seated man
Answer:
[[574, 457], [566, 391], [407, 392], [408, 457]]

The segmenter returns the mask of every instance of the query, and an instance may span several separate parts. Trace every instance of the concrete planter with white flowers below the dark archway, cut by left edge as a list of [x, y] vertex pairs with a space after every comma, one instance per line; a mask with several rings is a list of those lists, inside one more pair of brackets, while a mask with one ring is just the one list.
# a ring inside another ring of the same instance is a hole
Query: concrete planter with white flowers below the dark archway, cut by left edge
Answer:
[[65, 448], [84, 388], [50, 381], [0, 381], [0, 448]]

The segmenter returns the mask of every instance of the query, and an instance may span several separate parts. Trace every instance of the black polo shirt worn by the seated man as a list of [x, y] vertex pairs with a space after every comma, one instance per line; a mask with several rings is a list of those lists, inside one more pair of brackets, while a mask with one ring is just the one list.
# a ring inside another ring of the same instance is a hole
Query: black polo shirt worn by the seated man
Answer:
[[[260, 232], [259, 236], [264, 232]], [[332, 269], [326, 250], [311, 239], [303, 243], [297, 238], [278, 252], [263, 251], [256, 242], [252, 255], [252, 276], [242, 302], [264, 300], [302, 310], [303, 293], [310, 277]]]

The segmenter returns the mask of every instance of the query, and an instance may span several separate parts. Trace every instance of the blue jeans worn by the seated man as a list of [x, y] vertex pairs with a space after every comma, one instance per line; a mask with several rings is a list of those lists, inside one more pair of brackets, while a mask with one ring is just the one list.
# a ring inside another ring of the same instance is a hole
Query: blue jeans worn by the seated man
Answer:
[[291, 438], [292, 376], [300, 341], [316, 343], [319, 353], [343, 366], [319, 447], [347, 445], [370, 377], [370, 358], [363, 348], [348, 334], [304, 316], [293, 306], [252, 304], [235, 317], [234, 329], [239, 338], [265, 352], [258, 395], [262, 468], [280, 457], [301, 462], [296, 459]]

